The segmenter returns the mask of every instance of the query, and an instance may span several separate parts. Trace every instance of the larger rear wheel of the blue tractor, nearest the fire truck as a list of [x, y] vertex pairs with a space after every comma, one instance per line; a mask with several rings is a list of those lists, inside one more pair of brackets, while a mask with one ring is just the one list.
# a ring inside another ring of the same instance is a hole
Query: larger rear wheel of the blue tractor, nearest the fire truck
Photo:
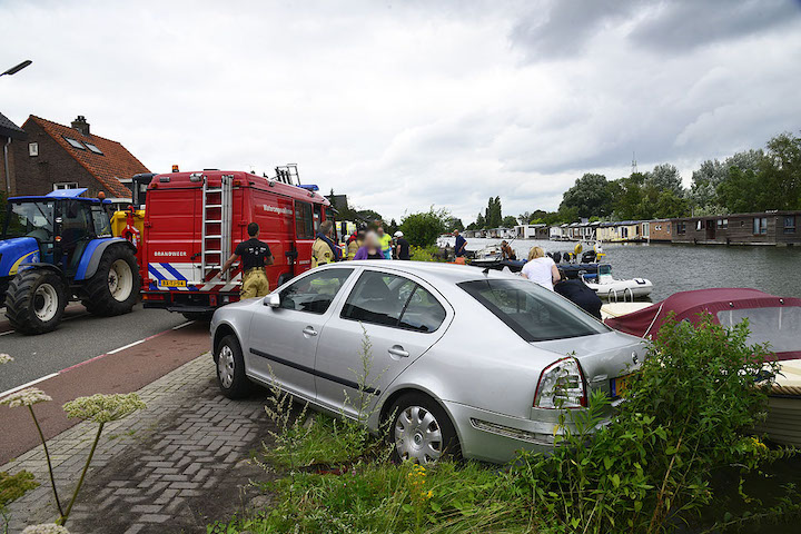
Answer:
[[139, 298], [139, 269], [134, 251], [127, 246], [109, 247], [100, 265], [86, 284], [81, 304], [93, 315], [110, 317], [134, 308]]

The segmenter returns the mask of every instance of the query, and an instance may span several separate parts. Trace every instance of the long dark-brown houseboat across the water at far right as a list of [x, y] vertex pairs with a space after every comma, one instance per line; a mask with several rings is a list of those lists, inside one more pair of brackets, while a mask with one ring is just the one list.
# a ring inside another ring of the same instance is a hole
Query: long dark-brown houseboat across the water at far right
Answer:
[[801, 211], [759, 211], [671, 220], [673, 243], [801, 245]]

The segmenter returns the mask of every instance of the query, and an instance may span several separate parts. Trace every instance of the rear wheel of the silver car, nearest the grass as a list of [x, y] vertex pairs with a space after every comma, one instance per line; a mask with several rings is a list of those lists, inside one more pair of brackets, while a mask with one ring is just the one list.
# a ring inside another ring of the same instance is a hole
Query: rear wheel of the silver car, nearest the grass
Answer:
[[456, 428], [442, 406], [428, 395], [407, 393], [389, 411], [388, 439], [393, 458], [429, 464], [443, 458], [458, 459], [462, 447]]

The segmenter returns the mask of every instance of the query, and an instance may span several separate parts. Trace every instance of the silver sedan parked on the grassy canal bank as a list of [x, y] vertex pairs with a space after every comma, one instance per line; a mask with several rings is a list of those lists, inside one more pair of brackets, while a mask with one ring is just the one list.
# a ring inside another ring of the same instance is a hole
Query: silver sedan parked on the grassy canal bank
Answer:
[[617, 399], [645, 355], [641, 339], [518, 276], [417, 261], [318, 267], [218, 309], [211, 339], [226, 396], [275, 379], [298, 400], [355, 418], [366, 386], [368, 427], [392, 417], [396, 454], [421, 463], [547, 451], [564, 432], [560, 414], [583, 409], [596, 390]]

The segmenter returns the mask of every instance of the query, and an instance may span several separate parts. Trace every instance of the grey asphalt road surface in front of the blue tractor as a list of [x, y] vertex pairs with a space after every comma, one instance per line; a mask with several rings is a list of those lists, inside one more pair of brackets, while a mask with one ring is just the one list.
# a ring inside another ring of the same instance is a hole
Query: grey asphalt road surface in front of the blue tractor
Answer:
[[141, 305], [130, 314], [95, 317], [80, 304], [72, 304], [65, 318], [55, 332], [23, 336], [11, 332], [4, 308], [0, 309], [0, 353], [14, 358], [0, 372], [0, 393], [187, 322], [180, 314], [142, 309]]

